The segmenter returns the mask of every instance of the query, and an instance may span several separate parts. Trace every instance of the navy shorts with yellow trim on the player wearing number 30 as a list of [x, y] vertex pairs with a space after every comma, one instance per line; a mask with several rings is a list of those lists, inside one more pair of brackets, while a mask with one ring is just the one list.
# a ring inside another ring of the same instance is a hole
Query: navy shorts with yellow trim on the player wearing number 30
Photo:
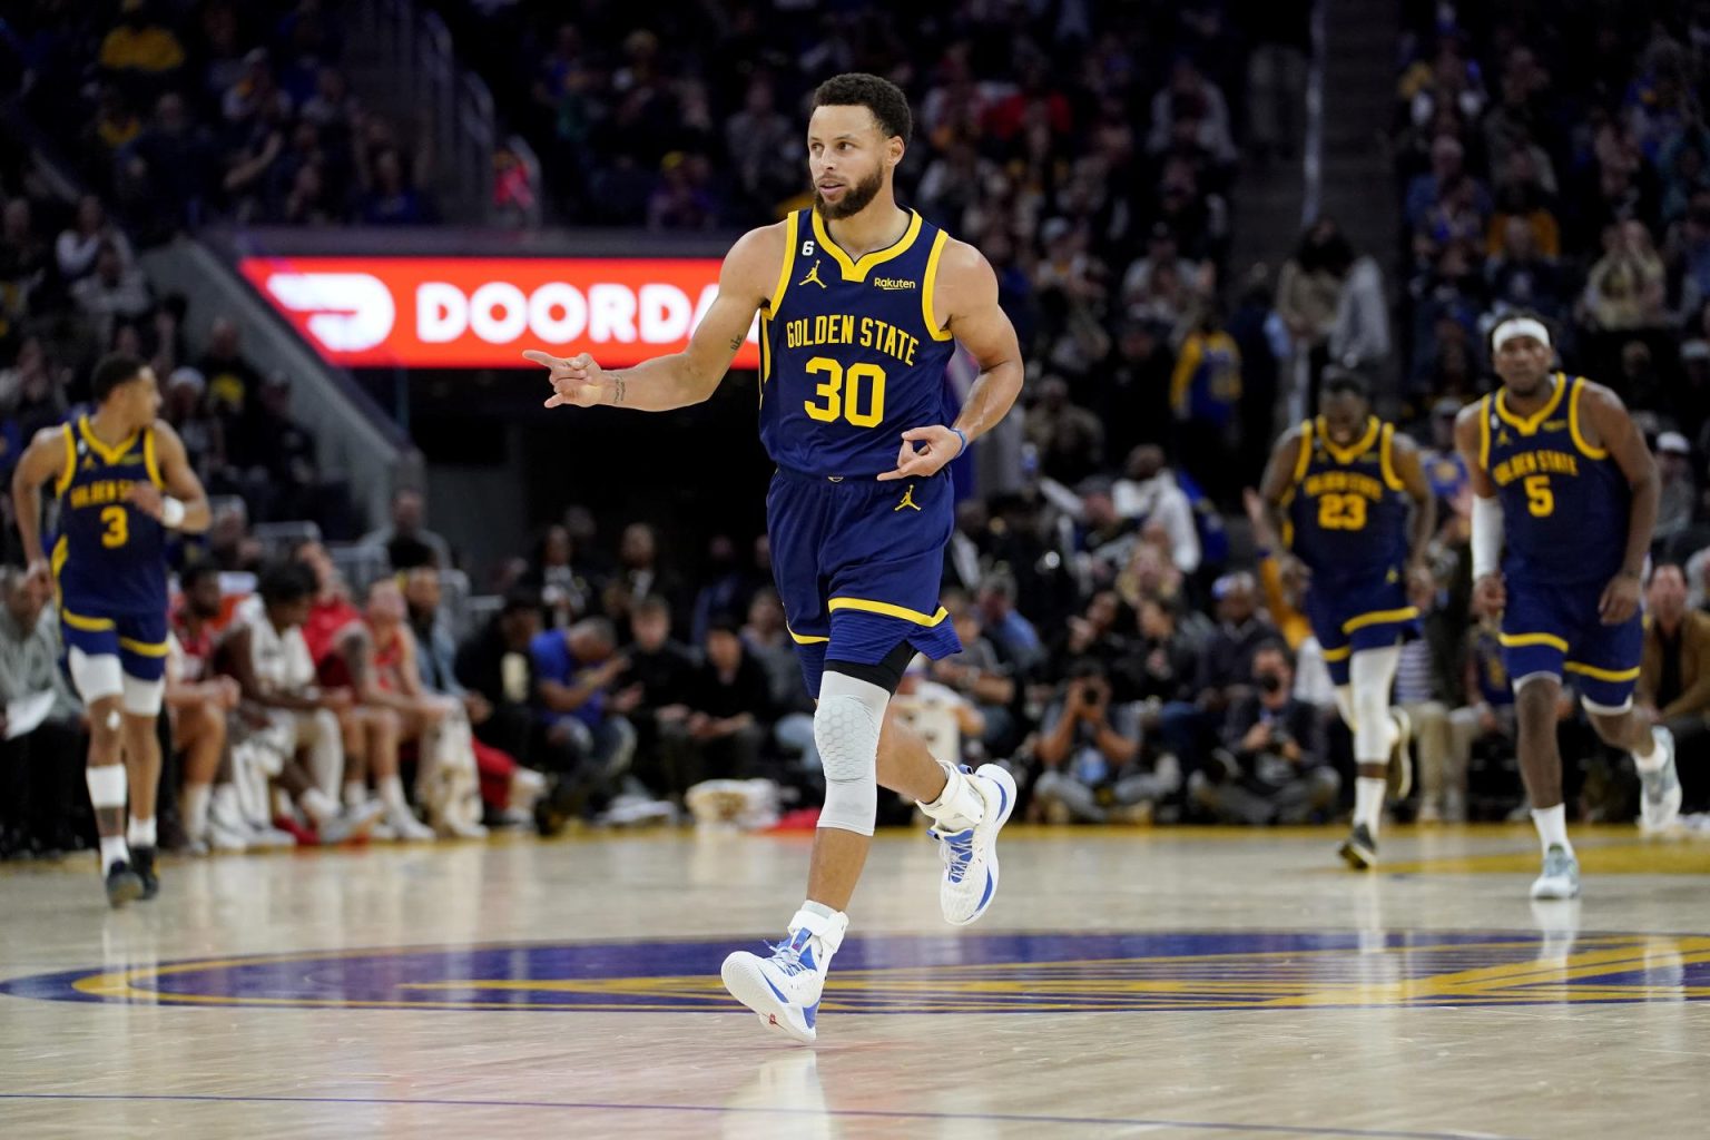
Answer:
[[771, 573], [812, 696], [826, 660], [877, 665], [905, 641], [934, 660], [961, 651], [939, 605], [954, 526], [944, 472], [894, 482], [773, 475]]

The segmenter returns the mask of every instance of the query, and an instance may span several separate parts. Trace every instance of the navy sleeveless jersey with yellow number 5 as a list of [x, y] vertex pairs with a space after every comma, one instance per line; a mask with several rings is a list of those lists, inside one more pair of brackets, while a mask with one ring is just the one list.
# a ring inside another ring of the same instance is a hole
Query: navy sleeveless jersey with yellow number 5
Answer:
[[1585, 385], [1556, 373], [1549, 402], [1524, 417], [1501, 391], [1479, 405], [1479, 465], [1501, 501], [1510, 579], [1604, 583], [1621, 569], [1633, 492], [1609, 451], [1585, 443]]

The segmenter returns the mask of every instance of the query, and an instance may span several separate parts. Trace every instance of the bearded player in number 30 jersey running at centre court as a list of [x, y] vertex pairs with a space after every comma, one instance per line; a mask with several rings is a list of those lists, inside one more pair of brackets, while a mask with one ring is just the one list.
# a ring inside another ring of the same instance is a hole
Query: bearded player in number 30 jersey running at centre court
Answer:
[[[876, 75], [814, 92], [807, 161], [814, 207], [742, 236], [718, 299], [684, 352], [624, 371], [587, 354], [525, 356], [551, 369], [556, 405], [648, 412], [706, 400], [758, 313], [759, 431], [778, 465], [766, 496], [773, 574], [817, 701], [824, 761], [807, 901], [770, 957], [732, 954], [725, 986], [763, 1024], [812, 1041], [826, 969], [872, 841], [879, 784], [917, 800], [942, 844], [939, 902], [966, 925], [997, 889], [997, 832], [1016, 803], [997, 764], [940, 766], [886, 706], [918, 651], [959, 649], [939, 605], [954, 526], [946, 463], [990, 431], [1021, 391], [1016, 332], [997, 277], [973, 248], [896, 205], [908, 101]], [[954, 344], [980, 378], [949, 422], [944, 369]], [[882, 726], [882, 730], [881, 730]]]

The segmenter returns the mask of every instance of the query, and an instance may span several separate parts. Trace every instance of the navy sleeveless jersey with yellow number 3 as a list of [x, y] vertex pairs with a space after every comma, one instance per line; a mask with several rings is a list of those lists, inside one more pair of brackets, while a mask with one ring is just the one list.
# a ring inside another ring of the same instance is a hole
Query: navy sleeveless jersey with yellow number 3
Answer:
[[108, 446], [79, 415], [65, 424], [65, 472], [53, 576], [67, 620], [166, 612], [166, 528], [125, 501], [133, 484], [164, 487], [154, 427]]

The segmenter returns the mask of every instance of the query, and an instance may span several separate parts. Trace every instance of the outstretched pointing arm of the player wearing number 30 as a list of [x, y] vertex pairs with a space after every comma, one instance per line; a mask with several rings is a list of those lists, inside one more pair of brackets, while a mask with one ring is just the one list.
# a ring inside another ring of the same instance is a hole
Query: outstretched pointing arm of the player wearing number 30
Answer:
[[730, 371], [730, 361], [747, 340], [754, 314], [768, 303], [783, 263], [783, 227], [766, 226], [742, 234], [718, 270], [718, 297], [689, 337], [682, 352], [657, 356], [634, 367], [605, 371], [587, 352], [556, 357], [539, 349], [523, 359], [545, 366], [552, 395], [545, 407], [602, 403], [641, 412], [669, 412], [713, 395]]

